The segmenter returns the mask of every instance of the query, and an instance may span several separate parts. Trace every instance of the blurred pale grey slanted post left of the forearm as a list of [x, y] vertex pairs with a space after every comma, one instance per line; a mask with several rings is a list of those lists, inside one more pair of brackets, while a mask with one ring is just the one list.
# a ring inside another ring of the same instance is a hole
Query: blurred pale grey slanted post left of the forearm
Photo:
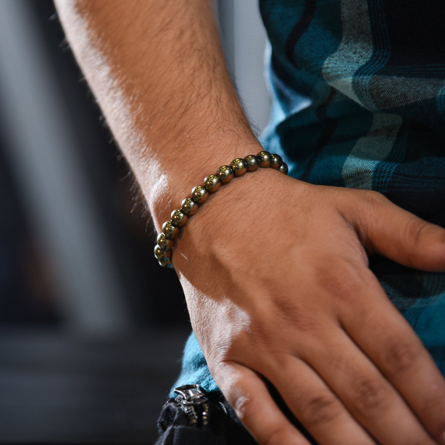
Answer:
[[[82, 167], [69, 110], [28, 0], [0, 2], [0, 117], [5, 158], [67, 328], [132, 327], [117, 263]], [[147, 252], [151, 255], [151, 252]]]

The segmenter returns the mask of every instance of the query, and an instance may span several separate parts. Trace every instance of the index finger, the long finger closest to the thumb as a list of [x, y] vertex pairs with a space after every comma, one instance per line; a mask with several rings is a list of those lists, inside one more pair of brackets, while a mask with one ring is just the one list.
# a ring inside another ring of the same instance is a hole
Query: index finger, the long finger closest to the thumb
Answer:
[[444, 377], [372, 273], [363, 295], [344, 305], [339, 317], [344, 330], [399, 390], [431, 436], [445, 444]]

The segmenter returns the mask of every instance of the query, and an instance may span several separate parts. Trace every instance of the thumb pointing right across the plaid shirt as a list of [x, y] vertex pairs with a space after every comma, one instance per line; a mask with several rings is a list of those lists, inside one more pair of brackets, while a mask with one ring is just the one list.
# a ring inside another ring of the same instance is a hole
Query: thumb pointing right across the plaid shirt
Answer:
[[423, 271], [445, 271], [445, 229], [368, 192], [352, 211], [364, 247]]

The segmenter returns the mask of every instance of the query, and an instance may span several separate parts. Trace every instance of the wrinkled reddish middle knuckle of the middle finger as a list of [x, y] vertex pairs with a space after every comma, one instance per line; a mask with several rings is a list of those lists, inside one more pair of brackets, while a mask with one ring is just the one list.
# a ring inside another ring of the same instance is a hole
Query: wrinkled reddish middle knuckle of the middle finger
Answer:
[[383, 380], [367, 380], [356, 389], [353, 406], [361, 414], [383, 412], [392, 404], [390, 389]]

